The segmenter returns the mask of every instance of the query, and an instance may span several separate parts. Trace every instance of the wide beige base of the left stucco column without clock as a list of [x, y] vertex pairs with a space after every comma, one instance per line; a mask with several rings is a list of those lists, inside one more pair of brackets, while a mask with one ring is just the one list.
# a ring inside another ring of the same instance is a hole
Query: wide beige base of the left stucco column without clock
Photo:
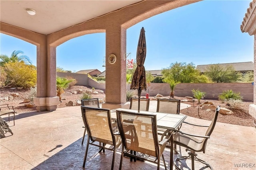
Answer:
[[54, 111], [60, 103], [59, 97], [40, 97], [34, 98], [37, 111]]

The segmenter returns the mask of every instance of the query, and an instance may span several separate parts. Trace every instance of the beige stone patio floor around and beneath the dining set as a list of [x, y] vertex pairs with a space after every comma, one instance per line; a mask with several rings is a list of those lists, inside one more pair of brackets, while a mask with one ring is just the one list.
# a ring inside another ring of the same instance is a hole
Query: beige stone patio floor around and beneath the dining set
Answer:
[[[155, 104], [150, 105], [151, 110], [155, 108]], [[21, 113], [15, 118], [15, 126], [13, 126], [12, 117], [10, 123], [8, 122], [14, 135], [8, 136], [10, 133], [6, 133], [7, 137], [0, 139], [1, 170], [84, 169], [82, 164], [87, 135], [84, 145], [81, 145], [84, 128], [82, 128], [80, 106], [59, 108], [53, 112]], [[8, 117], [4, 119], [7, 121]], [[192, 117], [187, 117], [186, 121], [202, 125], [210, 124], [210, 121]], [[190, 128], [186, 124], [182, 125], [182, 131], [189, 133], [204, 135], [205, 130]], [[85, 169], [110, 169], [112, 152], [106, 150], [105, 153], [98, 153], [97, 147], [89, 147]], [[119, 168], [120, 150], [115, 157], [114, 169]], [[178, 150], [182, 150], [182, 155], [187, 154], [182, 147], [178, 147]], [[177, 155], [174, 154], [175, 157]], [[166, 149], [164, 158], [167, 164], [169, 156], [170, 151]], [[198, 157], [211, 164], [214, 170], [255, 170], [256, 129], [217, 122], [208, 140], [206, 153], [199, 152]], [[188, 161], [186, 163], [190, 166]], [[205, 167], [202, 164], [196, 164], [195, 169], [200, 168]], [[130, 162], [130, 159], [124, 158], [122, 169], [154, 170], [156, 164], [141, 161]], [[164, 169], [163, 164], [161, 169]], [[183, 164], [182, 169], [190, 168]]]

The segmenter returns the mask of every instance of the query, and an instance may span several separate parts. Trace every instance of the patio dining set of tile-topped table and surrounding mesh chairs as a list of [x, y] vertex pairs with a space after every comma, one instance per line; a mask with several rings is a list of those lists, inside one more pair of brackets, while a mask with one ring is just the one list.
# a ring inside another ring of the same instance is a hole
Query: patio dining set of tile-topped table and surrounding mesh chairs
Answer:
[[[120, 170], [124, 156], [129, 156], [131, 161], [138, 159], [154, 162], [157, 164], [157, 169], [160, 169], [162, 157], [164, 167], [167, 169], [163, 156], [165, 148], [170, 149], [170, 169], [173, 168], [173, 165], [176, 169], [180, 169], [182, 167], [181, 160], [187, 158], [191, 159], [192, 170], [194, 170], [194, 160], [212, 169], [207, 162], [196, 157], [196, 152], [205, 152], [206, 143], [216, 124], [220, 107], [216, 108], [212, 123], [206, 134], [202, 136], [184, 133], [180, 130], [182, 123], [187, 123], [184, 121], [187, 116], [179, 114], [180, 100], [158, 99], [156, 112], [148, 111], [149, 102], [149, 99], [141, 99], [140, 110], [138, 110], [138, 98], [131, 98], [130, 109], [110, 110], [100, 108], [98, 98], [82, 100], [84, 135], [86, 131], [88, 133], [83, 167], [86, 164], [88, 147], [94, 145], [99, 147], [98, 152], [105, 152], [105, 149], [113, 151], [111, 166], [113, 169], [116, 150], [122, 145]], [[82, 144], [83, 141], [84, 136]], [[176, 145], [185, 147], [186, 151], [189, 151], [188, 156], [178, 156], [173, 160], [173, 152], [178, 153]], [[152, 160], [151, 156], [155, 159]]]

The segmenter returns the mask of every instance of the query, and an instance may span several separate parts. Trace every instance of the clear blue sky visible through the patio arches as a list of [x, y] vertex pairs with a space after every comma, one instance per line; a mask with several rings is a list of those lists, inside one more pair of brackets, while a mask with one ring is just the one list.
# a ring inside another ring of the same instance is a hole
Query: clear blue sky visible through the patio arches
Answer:
[[[127, 29], [127, 59], [136, 59], [141, 27], [146, 31], [146, 70], [160, 70], [171, 63], [236, 63], [254, 60], [254, 39], [240, 25], [250, 0], [204, 0], [141, 21]], [[57, 66], [79, 71], [102, 67], [105, 33], [76, 37], [56, 49]], [[20, 50], [36, 65], [36, 46], [0, 34], [0, 54]]]

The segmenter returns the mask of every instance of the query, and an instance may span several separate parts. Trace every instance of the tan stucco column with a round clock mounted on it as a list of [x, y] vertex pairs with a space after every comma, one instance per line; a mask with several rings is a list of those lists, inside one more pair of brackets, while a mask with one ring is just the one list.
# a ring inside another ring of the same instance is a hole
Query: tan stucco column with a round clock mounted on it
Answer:
[[[126, 29], [109, 25], [106, 28], [106, 102], [102, 107], [115, 109], [126, 103]], [[108, 56], [116, 55], [110, 64]]]

